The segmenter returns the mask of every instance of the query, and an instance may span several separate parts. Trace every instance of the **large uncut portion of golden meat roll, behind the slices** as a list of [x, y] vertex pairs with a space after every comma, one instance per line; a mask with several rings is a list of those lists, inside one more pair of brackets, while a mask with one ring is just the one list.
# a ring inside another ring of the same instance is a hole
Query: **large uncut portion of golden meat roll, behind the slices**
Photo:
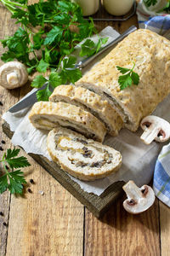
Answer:
[[[139, 85], [120, 90], [122, 75], [116, 66], [132, 68], [139, 74]], [[122, 116], [125, 126], [136, 131], [139, 122], [152, 113], [170, 92], [170, 41], [146, 29], [139, 29], [99, 61], [77, 86], [98, 93]]]

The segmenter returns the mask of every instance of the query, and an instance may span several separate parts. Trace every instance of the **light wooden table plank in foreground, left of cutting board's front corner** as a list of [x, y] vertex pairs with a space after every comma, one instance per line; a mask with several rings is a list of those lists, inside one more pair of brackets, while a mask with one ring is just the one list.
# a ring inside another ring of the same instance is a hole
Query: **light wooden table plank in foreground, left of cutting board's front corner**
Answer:
[[[28, 83], [20, 97], [29, 90]], [[22, 155], [27, 156], [23, 150]], [[29, 161], [25, 172], [32, 193], [26, 187], [23, 197], [11, 197], [6, 255], [82, 255], [84, 207], [31, 157]]]

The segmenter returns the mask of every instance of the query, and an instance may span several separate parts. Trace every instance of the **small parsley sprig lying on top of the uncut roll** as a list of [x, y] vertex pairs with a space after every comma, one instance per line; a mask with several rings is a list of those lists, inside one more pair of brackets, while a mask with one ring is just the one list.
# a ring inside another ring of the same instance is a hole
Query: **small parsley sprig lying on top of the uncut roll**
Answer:
[[121, 90], [124, 90], [125, 88], [131, 86], [132, 84], [138, 85], [139, 84], [139, 74], [133, 72], [133, 69], [135, 67], [135, 63], [133, 62], [133, 67], [131, 69], [126, 67], [119, 67], [116, 66], [116, 68], [122, 73], [121, 76], [119, 76], [118, 83], [120, 84]]

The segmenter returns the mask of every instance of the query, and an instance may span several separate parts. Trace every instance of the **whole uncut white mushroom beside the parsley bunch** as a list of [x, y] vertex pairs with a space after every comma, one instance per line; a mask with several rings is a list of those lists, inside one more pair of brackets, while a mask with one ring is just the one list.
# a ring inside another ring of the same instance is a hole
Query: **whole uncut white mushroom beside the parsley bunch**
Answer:
[[19, 61], [9, 61], [0, 67], [0, 85], [14, 89], [26, 84], [28, 73], [24, 64]]

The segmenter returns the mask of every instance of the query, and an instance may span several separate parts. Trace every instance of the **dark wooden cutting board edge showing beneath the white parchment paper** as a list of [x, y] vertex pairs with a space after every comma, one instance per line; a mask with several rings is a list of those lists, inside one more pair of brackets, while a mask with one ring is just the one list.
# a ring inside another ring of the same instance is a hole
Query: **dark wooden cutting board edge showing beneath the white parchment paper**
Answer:
[[[9, 125], [5, 122], [3, 124], [3, 132], [11, 138], [13, 131], [10, 131]], [[57, 164], [50, 162], [47, 158], [39, 154], [30, 154], [31, 157], [37, 161], [48, 173], [50, 173], [65, 189], [74, 195], [78, 201], [84, 206], [88, 207], [94, 216], [100, 218], [111, 207], [111, 204], [122, 194], [123, 182], [116, 182], [101, 194], [94, 195], [93, 193], [85, 192], [81, 189], [79, 184], [74, 182], [69, 175], [62, 171]]]

